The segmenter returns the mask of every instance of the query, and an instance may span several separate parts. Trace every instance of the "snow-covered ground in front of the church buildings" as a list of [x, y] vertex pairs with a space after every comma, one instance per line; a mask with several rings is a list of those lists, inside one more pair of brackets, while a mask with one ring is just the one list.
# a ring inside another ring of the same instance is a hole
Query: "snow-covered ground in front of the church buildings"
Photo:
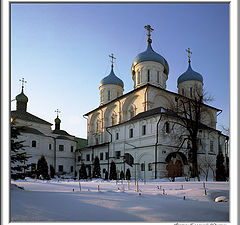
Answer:
[[[228, 182], [11, 181], [11, 221], [228, 222]], [[23, 189], [17, 186], [23, 187]], [[99, 185], [99, 191], [98, 191]], [[164, 189], [164, 191], [163, 191]], [[163, 194], [165, 192], [165, 194]], [[184, 200], [185, 196], [185, 200]]]

